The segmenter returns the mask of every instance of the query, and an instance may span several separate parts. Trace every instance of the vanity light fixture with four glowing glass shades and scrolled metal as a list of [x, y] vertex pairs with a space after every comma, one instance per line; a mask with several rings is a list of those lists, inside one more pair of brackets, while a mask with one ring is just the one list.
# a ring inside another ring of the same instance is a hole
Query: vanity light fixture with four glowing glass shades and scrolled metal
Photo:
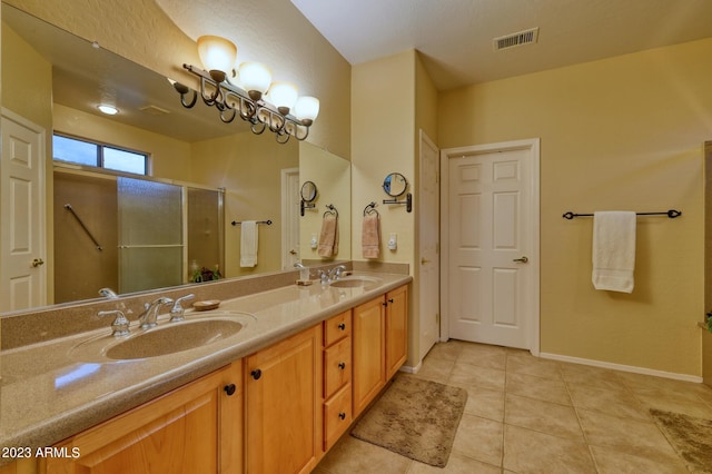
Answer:
[[[169, 79], [185, 108], [192, 108], [199, 93], [207, 106], [218, 110], [220, 120], [226, 124], [239, 116], [250, 122], [253, 134], [260, 135], [268, 129], [279, 144], [286, 144], [290, 137], [307, 138], [309, 127], [319, 113], [317, 98], [299, 97], [296, 86], [273, 81], [269, 68], [259, 62], [243, 62], [236, 71], [237, 47], [225, 38], [198, 38], [198, 53], [207, 70], [191, 65], [182, 67], [198, 77], [199, 92]], [[236, 77], [239, 86], [230, 81]]]

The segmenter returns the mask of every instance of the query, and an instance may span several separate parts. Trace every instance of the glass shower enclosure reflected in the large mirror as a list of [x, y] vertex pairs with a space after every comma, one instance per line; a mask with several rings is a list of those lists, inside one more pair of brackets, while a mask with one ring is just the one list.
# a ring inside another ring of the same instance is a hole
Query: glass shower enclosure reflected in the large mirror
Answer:
[[95, 298], [105, 286], [126, 294], [181, 285], [191, 267], [222, 268], [222, 199], [196, 185], [56, 170], [55, 303]]

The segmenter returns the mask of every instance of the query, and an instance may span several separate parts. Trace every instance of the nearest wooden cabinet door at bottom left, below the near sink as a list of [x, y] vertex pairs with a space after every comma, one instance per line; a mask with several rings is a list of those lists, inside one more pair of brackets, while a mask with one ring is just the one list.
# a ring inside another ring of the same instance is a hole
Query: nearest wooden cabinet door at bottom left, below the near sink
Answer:
[[47, 458], [40, 472], [240, 473], [240, 385], [235, 363], [59, 444], [78, 456]]

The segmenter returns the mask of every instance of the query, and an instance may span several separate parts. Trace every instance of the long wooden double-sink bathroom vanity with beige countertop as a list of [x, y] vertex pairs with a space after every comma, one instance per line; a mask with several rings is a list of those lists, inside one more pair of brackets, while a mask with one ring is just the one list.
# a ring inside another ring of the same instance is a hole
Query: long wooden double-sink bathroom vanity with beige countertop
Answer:
[[3, 395], [17, 397], [0, 401], [2, 446], [31, 455], [0, 473], [309, 472], [405, 362], [411, 279], [357, 274], [225, 300], [212, 317], [241, 329], [174, 354], [77, 352], [109, 328], [4, 352]]

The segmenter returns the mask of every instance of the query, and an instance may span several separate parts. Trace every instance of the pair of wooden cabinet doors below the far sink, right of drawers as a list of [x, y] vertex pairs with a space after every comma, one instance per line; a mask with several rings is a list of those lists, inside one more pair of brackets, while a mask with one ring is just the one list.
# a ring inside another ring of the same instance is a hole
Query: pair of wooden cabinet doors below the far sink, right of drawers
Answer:
[[407, 286], [402, 286], [354, 308], [354, 417], [406, 359], [407, 300]]

